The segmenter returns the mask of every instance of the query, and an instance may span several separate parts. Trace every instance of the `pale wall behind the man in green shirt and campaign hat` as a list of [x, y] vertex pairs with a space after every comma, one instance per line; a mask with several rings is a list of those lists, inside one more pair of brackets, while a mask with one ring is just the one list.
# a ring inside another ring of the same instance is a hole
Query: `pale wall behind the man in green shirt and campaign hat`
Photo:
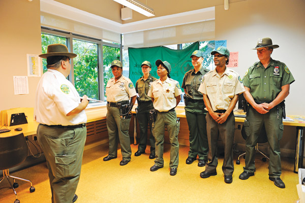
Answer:
[[[258, 38], [270, 37], [273, 44], [280, 48], [273, 50], [271, 57], [285, 62], [295, 78], [286, 98], [286, 114], [305, 115], [302, 105], [305, 69], [301, 64], [303, 47], [305, 47], [305, 1], [285, 0], [247, 0], [215, 9], [216, 40], [227, 40], [231, 52], [239, 52], [239, 66], [234, 68], [242, 77], [255, 61]], [[237, 128], [237, 127], [236, 127]], [[281, 151], [290, 156], [295, 150], [295, 127], [285, 126], [281, 140]], [[244, 142], [240, 130], [235, 130], [235, 141]], [[293, 156], [292, 156], [293, 157]]]

